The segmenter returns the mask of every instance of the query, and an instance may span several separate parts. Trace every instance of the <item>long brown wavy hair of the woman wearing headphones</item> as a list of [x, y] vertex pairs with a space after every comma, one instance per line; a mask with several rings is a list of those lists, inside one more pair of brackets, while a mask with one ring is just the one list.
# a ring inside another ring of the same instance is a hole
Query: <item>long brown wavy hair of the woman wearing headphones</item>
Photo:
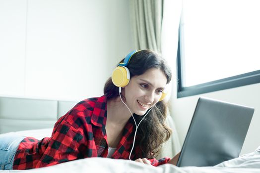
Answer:
[[[121, 62], [124, 62], [124, 59]], [[142, 75], [150, 68], [157, 68], [165, 74], [167, 84], [169, 84], [172, 78], [171, 69], [166, 65], [165, 60], [151, 50], [141, 50], [134, 53], [127, 67], [130, 71], [130, 77]], [[108, 99], [114, 99], [119, 96], [119, 87], [113, 84], [111, 78], [105, 84], [104, 94]], [[136, 123], [142, 119], [142, 116], [135, 114], [133, 116]], [[157, 102], [142, 120], [136, 136], [136, 143], [139, 144], [142, 150], [142, 157], [156, 157], [162, 150], [162, 144], [169, 139], [172, 131], [166, 125], [166, 116], [167, 106], [165, 101], [162, 100]]]

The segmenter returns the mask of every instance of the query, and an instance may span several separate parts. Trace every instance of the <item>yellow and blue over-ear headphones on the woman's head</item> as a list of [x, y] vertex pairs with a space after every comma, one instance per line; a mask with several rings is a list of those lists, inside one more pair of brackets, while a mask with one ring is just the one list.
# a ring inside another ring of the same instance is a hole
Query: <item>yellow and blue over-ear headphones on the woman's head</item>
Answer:
[[[113, 70], [111, 79], [115, 86], [126, 87], [128, 85], [128, 83], [130, 81], [130, 71], [126, 66], [128, 65], [132, 55], [136, 52], [138, 52], [138, 51], [136, 51], [136, 50], [131, 51], [125, 57], [124, 62], [119, 63], [118, 66]], [[162, 101], [166, 95], [167, 95], [167, 93], [163, 91], [162, 96], [159, 99], [159, 101]]]

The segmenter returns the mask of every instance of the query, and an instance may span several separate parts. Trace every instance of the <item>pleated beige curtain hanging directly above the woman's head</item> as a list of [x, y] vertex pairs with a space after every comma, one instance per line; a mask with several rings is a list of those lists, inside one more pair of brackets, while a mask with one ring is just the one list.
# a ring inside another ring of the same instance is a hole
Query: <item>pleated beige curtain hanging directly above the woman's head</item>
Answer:
[[163, 0], [130, 0], [130, 16], [135, 48], [161, 53]]

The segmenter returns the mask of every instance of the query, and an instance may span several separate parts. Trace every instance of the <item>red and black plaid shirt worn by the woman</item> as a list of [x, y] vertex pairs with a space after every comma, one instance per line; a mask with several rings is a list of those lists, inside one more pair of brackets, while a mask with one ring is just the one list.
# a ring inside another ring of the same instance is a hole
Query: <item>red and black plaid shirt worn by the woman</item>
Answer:
[[[76, 159], [107, 157], [106, 117], [106, 96], [79, 102], [57, 121], [51, 137], [42, 140], [26, 137], [22, 140], [14, 157], [13, 169], [25, 170]], [[129, 159], [135, 130], [131, 119], [124, 128], [117, 150], [112, 155], [114, 159]], [[140, 147], [135, 145], [131, 160], [138, 158], [143, 157]], [[150, 159], [153, 166], [165, 164], [169, 160], [170, 158]]]

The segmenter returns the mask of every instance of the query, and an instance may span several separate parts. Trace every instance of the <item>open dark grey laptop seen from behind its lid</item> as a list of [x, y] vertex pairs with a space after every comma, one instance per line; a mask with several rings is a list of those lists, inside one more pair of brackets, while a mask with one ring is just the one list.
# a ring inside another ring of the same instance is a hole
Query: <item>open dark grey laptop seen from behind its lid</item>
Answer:
[[251, 107], [200, 97], [177, 166], [215, 166], [237, 158], [253, 114]]

